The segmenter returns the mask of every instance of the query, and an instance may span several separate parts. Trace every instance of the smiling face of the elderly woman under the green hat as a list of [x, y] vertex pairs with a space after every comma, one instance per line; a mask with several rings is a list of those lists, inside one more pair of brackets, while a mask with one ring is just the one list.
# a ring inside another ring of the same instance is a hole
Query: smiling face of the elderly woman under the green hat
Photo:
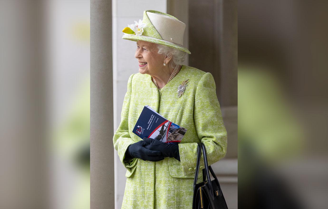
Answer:
[[156, 74], [156, 71], [163, 66], [165, 56], [157, 53], [158, 48], [154, 43], [147, 41], [137, 41], [135, 58], [139, 62], [139, 72], [141, 74]]

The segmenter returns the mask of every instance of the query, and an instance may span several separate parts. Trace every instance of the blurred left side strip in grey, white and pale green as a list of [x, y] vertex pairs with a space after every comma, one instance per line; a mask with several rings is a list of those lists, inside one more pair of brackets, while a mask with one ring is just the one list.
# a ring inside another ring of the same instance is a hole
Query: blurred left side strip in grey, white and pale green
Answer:
[[0, 208], [90, 208], [90, 1], [0, 16]]

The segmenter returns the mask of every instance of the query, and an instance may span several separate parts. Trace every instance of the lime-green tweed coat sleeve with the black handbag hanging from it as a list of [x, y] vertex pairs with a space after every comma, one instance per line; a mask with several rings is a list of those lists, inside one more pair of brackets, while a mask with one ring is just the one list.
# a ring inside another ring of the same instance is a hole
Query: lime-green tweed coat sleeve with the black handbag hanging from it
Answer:
[[[222, 159], [227, 152], [227, 131], [223, 125], [215, 81], [211, 73], [205, 73], [197, 85], [194, 123], [198, 138], [205, 145], [208, 165]], [[179, 144], [182, 170], [187, 175], [195, 173], [197, 145], [197, 143]], [[201, 157], [200, 166], [204, 166], [203, 155]]]

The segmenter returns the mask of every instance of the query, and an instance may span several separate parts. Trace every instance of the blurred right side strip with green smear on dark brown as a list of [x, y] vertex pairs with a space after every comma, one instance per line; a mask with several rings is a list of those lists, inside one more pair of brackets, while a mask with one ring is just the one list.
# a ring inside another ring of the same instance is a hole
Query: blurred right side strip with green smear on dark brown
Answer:
[[238, 205], [327, 208], [327, 1], [238, 1]]

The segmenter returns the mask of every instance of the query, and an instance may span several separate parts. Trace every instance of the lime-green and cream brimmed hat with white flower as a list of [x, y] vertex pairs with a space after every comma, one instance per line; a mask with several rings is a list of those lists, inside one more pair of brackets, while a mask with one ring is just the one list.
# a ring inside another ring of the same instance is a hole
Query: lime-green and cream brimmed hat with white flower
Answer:
[[134, 24], [128, 25], [122, 30], [124, 32], [122, 38], [161, 44], [191, 54], [187, 48], [183, 47], [185, 28], [186, 24], [172, 15], [155, 10], [145, 10], [143, 20], [134, 21]]

